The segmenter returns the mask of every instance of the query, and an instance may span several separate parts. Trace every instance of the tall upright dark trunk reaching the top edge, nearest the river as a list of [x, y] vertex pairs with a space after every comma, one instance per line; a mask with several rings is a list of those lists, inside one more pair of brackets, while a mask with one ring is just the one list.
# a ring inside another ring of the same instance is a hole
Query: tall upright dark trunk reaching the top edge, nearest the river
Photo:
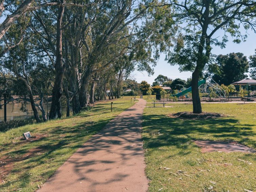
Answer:
[[[62, 2], [64, 3], [65, 0]], [[55, 64], [55, 83], [52, 89], [52, 101], [49, 119], [61, 118], [61, 96], [63, 75], [65, 72], [65, 65], [62, 62], [62, 17], [64, 13], [64, 6], [59, 7], [57, 19], [57, 48], [56, 48], [56, 64]]]

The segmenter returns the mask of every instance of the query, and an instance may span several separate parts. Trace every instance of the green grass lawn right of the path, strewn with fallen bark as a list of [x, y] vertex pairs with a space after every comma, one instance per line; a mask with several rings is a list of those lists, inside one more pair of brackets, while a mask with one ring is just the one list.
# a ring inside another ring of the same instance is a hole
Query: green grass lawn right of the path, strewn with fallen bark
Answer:
[[201, 153], [193, 143], [237, 141], [256, 148], [256, 104], [202, 104], [203, 111], [227, 115], [207, 120], [170, 118], [168, 114], [192, 111], [192, 104], [171, 105], [144, 109], [142, 136], [149, 191], [256, 191], [256, 154]]

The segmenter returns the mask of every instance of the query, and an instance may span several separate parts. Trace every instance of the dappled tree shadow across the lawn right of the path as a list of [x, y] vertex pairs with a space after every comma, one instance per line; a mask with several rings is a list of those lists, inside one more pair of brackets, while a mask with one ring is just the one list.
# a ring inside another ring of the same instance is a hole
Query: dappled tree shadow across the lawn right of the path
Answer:
[[[247, 137], [255, 136], [251, 124], [237, 124], [235, 118], [214, 118], [205, 120], [182, 120], [166, 115], [143, 116], [145, 148], [175, 146], [187, 148], [191, 140], [233, 140], [242, 143]], [[255, 143], [251, 143], [255, 148]]]

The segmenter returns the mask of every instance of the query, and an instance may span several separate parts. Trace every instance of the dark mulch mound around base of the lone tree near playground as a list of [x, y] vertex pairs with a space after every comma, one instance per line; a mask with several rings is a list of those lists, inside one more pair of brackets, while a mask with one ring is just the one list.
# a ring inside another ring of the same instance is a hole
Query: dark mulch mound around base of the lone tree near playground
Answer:
[[181, 118], [181, 119], [212, 119], [212, 118], [219, 118], [225, 115], [220, 113], [210, 113], [210, 112], [203, 112], [200, 114], [192, 113], [192, 112], [178, 112], [169, 115], [171, 118]]

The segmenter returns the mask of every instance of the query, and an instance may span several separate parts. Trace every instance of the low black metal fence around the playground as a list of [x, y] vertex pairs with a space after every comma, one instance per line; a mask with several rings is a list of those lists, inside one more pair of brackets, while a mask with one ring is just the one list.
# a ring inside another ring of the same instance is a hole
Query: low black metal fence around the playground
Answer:
[[[255, 101], [256, 90], [248, 91], [246, 93], [230, 92], [227, 95], [212, 95], [211, 93], [199, 93], [201, 102], [238, 102], [238, 101]], [[173, 97], [171, 94], [156, 94], [156, 99], [167, 102], [192, 102], [191, 93], [181, 95], [180, 97]]]

